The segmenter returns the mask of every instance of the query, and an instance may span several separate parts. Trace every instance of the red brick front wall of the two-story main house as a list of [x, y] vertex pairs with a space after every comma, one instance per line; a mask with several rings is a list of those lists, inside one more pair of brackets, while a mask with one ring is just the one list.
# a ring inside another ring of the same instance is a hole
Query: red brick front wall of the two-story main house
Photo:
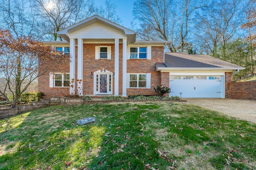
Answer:
[[[111, 46], [111, 60], [108, 59], [95, 59], [95, 46]], [[94, 78], [90, 78], [91, 72], [94, 73], [98, 70], [108, 70], [113, 74], [114, 72], [114, 47], [115, 44], [85, 44], [83, 45], [83, 95], [93, 95], [94, 94]], [[123, 46], [122, 43], [119, 44], [119, 95], [122, 95], [122, 64], [123, 64]], [[156, 71], [155, 63], [163, 62], [164, 47], [152, 46], [151, 47], [151, 60], [147, 59], [130, 59], [127, 60], [127, 73], [151, 73], [151, 86], [150, 89], [147, 88], [127, 88], [127, 96], [131, 95], [156, 95], [154, 87], [161, 85], [161, 75], [160, 71]], [[126, 57], [126, 56], [125, 56]], [[76, 47], [76, 77], [77, 79], [77, 47]], [[64, 72], [69, 72], [69, 65], [65, 65]], [[52, 72], [60, 72], [60, 70], [52, 69]], [[70, 77], [71, 78], [71, 77]], [[65, 96], [68, 94], [68, 88], [50, 88], [49, 87], [49, 73], [44, 74], [38, 78], [38, 92], [43, 92], [46, 98], [50, 96]], [[114, 95], [114, 81], [113, 76], [113, 92]], [[126, 80], [124, 80], [126, 81]], [[77, 86], [77, 85], [76, 85]], [[166, 86], [169, 86], [166, 85]]]

